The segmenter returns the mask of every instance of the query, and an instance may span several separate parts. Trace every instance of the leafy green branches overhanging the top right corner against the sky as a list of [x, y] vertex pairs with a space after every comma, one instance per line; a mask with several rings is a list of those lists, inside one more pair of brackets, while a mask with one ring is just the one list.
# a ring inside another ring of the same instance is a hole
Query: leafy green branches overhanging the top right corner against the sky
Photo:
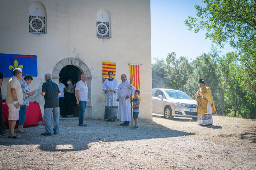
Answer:
[[206, 38], [224, 47], [227, 42], [243, 51], [256, 49], [256, 0], [203, 0], [195, 5], [197, 18], [185, 20], [188, 30], [206, 30]]

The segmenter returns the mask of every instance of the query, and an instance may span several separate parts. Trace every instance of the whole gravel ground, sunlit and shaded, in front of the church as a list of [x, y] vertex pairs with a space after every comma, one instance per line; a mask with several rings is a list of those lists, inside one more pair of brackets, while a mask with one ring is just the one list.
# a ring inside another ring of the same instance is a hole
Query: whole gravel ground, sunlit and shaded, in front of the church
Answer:
[[[140, 120], [139, 129], [103, 120], [60, 120], [60, 133], [27, 128], [20, 139], [0, 136], [0, 169], [256, 169], [256, 120], [213, 116]], [[52, 125], [53, 127], [53, 125]]]

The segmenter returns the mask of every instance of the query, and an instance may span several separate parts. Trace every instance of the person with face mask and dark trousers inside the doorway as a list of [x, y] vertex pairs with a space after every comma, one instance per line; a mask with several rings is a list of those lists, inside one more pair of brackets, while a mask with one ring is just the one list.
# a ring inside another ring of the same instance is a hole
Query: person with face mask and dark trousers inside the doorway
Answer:
[[74, 85], [72, 83], [72, 79], [68, 79], [67, 81], [68, 87], [65, 87], [66, 93], [66, 104], [68, 107], [68, 117], [73, 117], [73, 109], [72, 109], [72, 99], [75, 92]]

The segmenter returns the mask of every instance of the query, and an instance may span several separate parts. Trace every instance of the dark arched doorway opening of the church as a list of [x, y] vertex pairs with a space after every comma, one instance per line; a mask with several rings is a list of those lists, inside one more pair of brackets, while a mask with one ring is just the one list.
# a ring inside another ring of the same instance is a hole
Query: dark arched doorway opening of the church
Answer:
[[74, 66], [74, 65], [67, 65], [63, 67], [60, 71], [59, 77], [61, 78], [61, 82], [68, 88], [67, 81], [72, 79], [73, 90], [72, 93], [69, 93], [66, 89], [64, 90], [64, 109], [61, 114], [63, 118], [65, 117], [79, 117], [79, 108], [76, 104], [76, 97], [75, 97], [75, 85], [78, 81], [81, 80], [82, 72], [81, 70]]

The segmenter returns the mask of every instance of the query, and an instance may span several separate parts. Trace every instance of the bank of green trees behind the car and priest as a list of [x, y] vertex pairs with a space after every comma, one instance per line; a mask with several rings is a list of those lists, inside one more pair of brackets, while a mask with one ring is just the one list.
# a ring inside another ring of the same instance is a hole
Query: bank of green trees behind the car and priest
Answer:
[[[211, 88], [215, 115], [256, 117], [256, 60], [243, 53], [221, 55], [216, 47], [188, 62], [186, 57], [168, 54], [166, 61], [157, 59], [152, 65], [152, 87], [184, 90], [191, 98], [202, 78]], [[180, 77], [180, 78], [179, 78]], [[238, 114], [236, 114], [238, 113]]]

